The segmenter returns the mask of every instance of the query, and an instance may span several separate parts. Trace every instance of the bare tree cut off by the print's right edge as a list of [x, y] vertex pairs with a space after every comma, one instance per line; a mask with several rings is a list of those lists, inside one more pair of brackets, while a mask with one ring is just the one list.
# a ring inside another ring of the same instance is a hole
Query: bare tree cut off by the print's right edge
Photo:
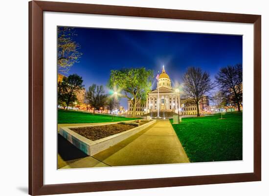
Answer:
[[226, 97], [235, 102], [238, 112], [241, 112], [240, 105], [243, 105], [243, 69], [242, 64], [228, 65], [220, 69], [215, 77], [220, 90]]

